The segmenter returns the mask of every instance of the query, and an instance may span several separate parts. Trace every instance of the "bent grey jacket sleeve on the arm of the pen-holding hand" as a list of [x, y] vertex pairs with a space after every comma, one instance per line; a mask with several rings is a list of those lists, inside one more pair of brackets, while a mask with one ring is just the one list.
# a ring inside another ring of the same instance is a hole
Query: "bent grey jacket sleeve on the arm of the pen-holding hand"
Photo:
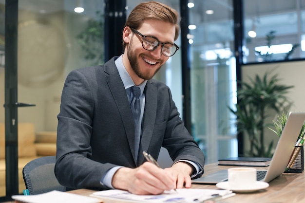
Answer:
[[61, 185], [77, 188], [105, 188], [100, 179], [116, 166], [88, 159], [92, 156], [91, 134], [94, 99], [88, 77], [76, 70], [65, 81], [57, 116], [55, 175]]

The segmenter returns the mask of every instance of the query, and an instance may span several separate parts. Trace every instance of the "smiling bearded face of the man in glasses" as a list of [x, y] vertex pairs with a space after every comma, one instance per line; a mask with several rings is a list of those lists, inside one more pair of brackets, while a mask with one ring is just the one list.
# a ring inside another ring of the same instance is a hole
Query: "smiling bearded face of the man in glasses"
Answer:
[[[156, 37], [160, 42], [173, 43], [175, 36], [175, 26], [159, 20], [146, 20], [137, 30], [142, 35]], [[169, 59], [161, 54], [161, 44], [153, 51], [145, 50], [142, 47], [140, 35], [133, 33], [127, 45], [127, 57], [131, 69], [137, 77], [144, 80], [151, 79]]]

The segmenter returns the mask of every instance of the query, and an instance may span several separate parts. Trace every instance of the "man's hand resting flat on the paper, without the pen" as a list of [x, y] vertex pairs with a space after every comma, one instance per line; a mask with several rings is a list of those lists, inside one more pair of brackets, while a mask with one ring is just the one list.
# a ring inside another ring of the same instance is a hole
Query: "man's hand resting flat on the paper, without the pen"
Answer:
[[193, 166], [187, 162], [177, 162], [170, 168], [165, 168], [166, 171], [172, 174], [176, 182], [175, 188], [190, 188], [191, 187], [191, 173]]

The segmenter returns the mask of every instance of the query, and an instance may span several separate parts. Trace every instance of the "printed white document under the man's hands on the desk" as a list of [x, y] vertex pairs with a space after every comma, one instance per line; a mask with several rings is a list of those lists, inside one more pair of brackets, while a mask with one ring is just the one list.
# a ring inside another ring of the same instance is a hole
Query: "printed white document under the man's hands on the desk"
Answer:
[[231, 190], [221, 189], [176, 189], [160, 195], [135, 195], [125, 190], [110, 189], [94, 192], [91, 196], [102, 199], [141, 203], [200, 203], [211, 198], [225, 199], [235, 195]]

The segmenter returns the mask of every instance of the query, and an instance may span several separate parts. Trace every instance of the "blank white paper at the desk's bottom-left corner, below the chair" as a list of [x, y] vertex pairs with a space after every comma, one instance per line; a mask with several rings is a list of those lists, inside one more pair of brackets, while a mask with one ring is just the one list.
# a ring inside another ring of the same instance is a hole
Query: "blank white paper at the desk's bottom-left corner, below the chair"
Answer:
[[38, 195], [13, 195], [12, 198], [23, 203], [102, 203], [102, 200], [68, 192], [51, 191]]

